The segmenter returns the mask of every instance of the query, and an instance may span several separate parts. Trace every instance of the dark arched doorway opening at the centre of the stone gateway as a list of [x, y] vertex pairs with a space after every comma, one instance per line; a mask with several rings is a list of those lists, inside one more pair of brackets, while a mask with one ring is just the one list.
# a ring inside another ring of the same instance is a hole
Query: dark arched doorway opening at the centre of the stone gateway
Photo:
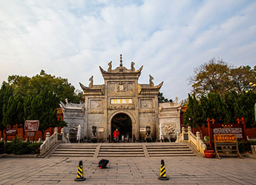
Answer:
[[118, 129], [119, 130], [119, 141], [122, 140], [122, 135], [125, 136], [125, 138], [128, 136], [128, 138], [131, 138], [132, 135], [132, 121], [129, 115], [125, 113], [118, 113], [114, 115], [114, 117], [111, 120], [111, 135], [112, 135], [112, 141], [113, 141], [113, 132]]

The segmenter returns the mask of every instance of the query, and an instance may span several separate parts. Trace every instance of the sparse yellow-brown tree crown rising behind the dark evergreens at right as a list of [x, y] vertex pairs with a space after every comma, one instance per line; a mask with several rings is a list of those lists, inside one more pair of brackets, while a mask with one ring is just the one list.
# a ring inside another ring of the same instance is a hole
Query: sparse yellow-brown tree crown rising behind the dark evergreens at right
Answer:
[[242, 93], [248, 89], [249, 82], [255, 78], [256, 66], [232, 67], [225, 61], [215, 58], [194, 69], [194, 75], [189, 78], [192, 92], [196, 95], [207, 95], [209, 92], [220, 94], [235, 91]]

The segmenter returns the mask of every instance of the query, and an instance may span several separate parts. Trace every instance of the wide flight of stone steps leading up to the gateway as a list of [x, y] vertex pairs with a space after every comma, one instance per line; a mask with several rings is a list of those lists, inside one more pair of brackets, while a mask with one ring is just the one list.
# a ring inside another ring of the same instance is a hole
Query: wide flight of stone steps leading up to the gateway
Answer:
[[59, 144], [47, 157], [179, 157], [196, 156], [186, 143]]

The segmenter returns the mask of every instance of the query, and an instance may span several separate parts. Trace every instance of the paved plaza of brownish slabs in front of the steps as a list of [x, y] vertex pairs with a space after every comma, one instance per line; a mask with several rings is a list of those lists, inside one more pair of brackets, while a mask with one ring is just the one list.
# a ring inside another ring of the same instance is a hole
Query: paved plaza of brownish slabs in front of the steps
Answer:
[[[256, 184], [253, 158], [163, 158], [169, 181], [160, 181], [162, 158], [0, 158], [0, 184]], [[76, 182], [83, 162], [86, 181]]]

